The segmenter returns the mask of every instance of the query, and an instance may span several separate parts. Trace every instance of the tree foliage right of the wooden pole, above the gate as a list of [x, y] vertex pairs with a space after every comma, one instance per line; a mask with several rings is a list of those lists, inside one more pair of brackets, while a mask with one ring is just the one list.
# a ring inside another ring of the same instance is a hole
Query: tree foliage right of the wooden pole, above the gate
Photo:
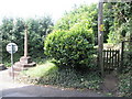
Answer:
[[118, 44], [121, 41], [131, 40], [132, 2], [107, 4], [112, 8], [111, 12], [113, 13], [113, 22], [110, 28], [108, 42]]

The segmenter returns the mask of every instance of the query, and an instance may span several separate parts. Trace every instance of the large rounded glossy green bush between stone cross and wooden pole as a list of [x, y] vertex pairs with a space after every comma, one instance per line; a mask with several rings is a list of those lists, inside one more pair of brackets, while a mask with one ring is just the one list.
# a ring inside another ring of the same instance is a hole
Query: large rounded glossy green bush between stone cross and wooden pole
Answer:
[[45, 54], [55, 58], [61, 66], [92, 67], [94, 34], [87, 24], [76, 24], [69, 31], [54, 31], [48, 34]]

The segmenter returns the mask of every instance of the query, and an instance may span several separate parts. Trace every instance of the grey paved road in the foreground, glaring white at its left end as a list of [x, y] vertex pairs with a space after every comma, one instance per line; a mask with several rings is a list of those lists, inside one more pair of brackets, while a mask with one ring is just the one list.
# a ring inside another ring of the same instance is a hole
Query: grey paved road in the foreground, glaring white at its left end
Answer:
[[0, 70], [0, 97], [103, 97], [103, 95], [18, 84], [9, 77], [8, 70]]

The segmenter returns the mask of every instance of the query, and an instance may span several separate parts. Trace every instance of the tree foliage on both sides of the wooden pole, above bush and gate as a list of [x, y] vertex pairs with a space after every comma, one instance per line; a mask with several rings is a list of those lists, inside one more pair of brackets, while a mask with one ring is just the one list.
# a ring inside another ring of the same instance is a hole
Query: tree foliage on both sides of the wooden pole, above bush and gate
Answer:
[[[132, 2], [108, 2], [103, 4], [103, 42], [120, 43], [122, 40], [130, 40]], [[66, 12], [55, 24], [55, 30], [69, 30], [74, 24], [87, 20], [95, 34], [97, 44], [98, 37], [98, 9], [97, 4], [81, 4]]]

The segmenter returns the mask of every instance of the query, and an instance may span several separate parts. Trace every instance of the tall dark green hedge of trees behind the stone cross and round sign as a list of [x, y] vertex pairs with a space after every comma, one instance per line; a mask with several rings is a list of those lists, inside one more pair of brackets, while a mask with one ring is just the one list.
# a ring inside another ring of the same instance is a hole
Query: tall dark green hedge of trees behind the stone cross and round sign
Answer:
[[44, 36], [52, 31], [53, 26], [53, 22], [50, 16], [26, 20], [21, 18], [4, 18], [0, 25], [0, 32], [2, 33], [3, 62], [10, 61], [10, 55], [6, 51], [6, 46], [10, 42], [14, 42], [19, 46], [19, 51], [15, 54], [15, 61], [23, 55], [25, 24], [28, 25], [29, 35], [29, 55], [34, 57], [43, 55]]

